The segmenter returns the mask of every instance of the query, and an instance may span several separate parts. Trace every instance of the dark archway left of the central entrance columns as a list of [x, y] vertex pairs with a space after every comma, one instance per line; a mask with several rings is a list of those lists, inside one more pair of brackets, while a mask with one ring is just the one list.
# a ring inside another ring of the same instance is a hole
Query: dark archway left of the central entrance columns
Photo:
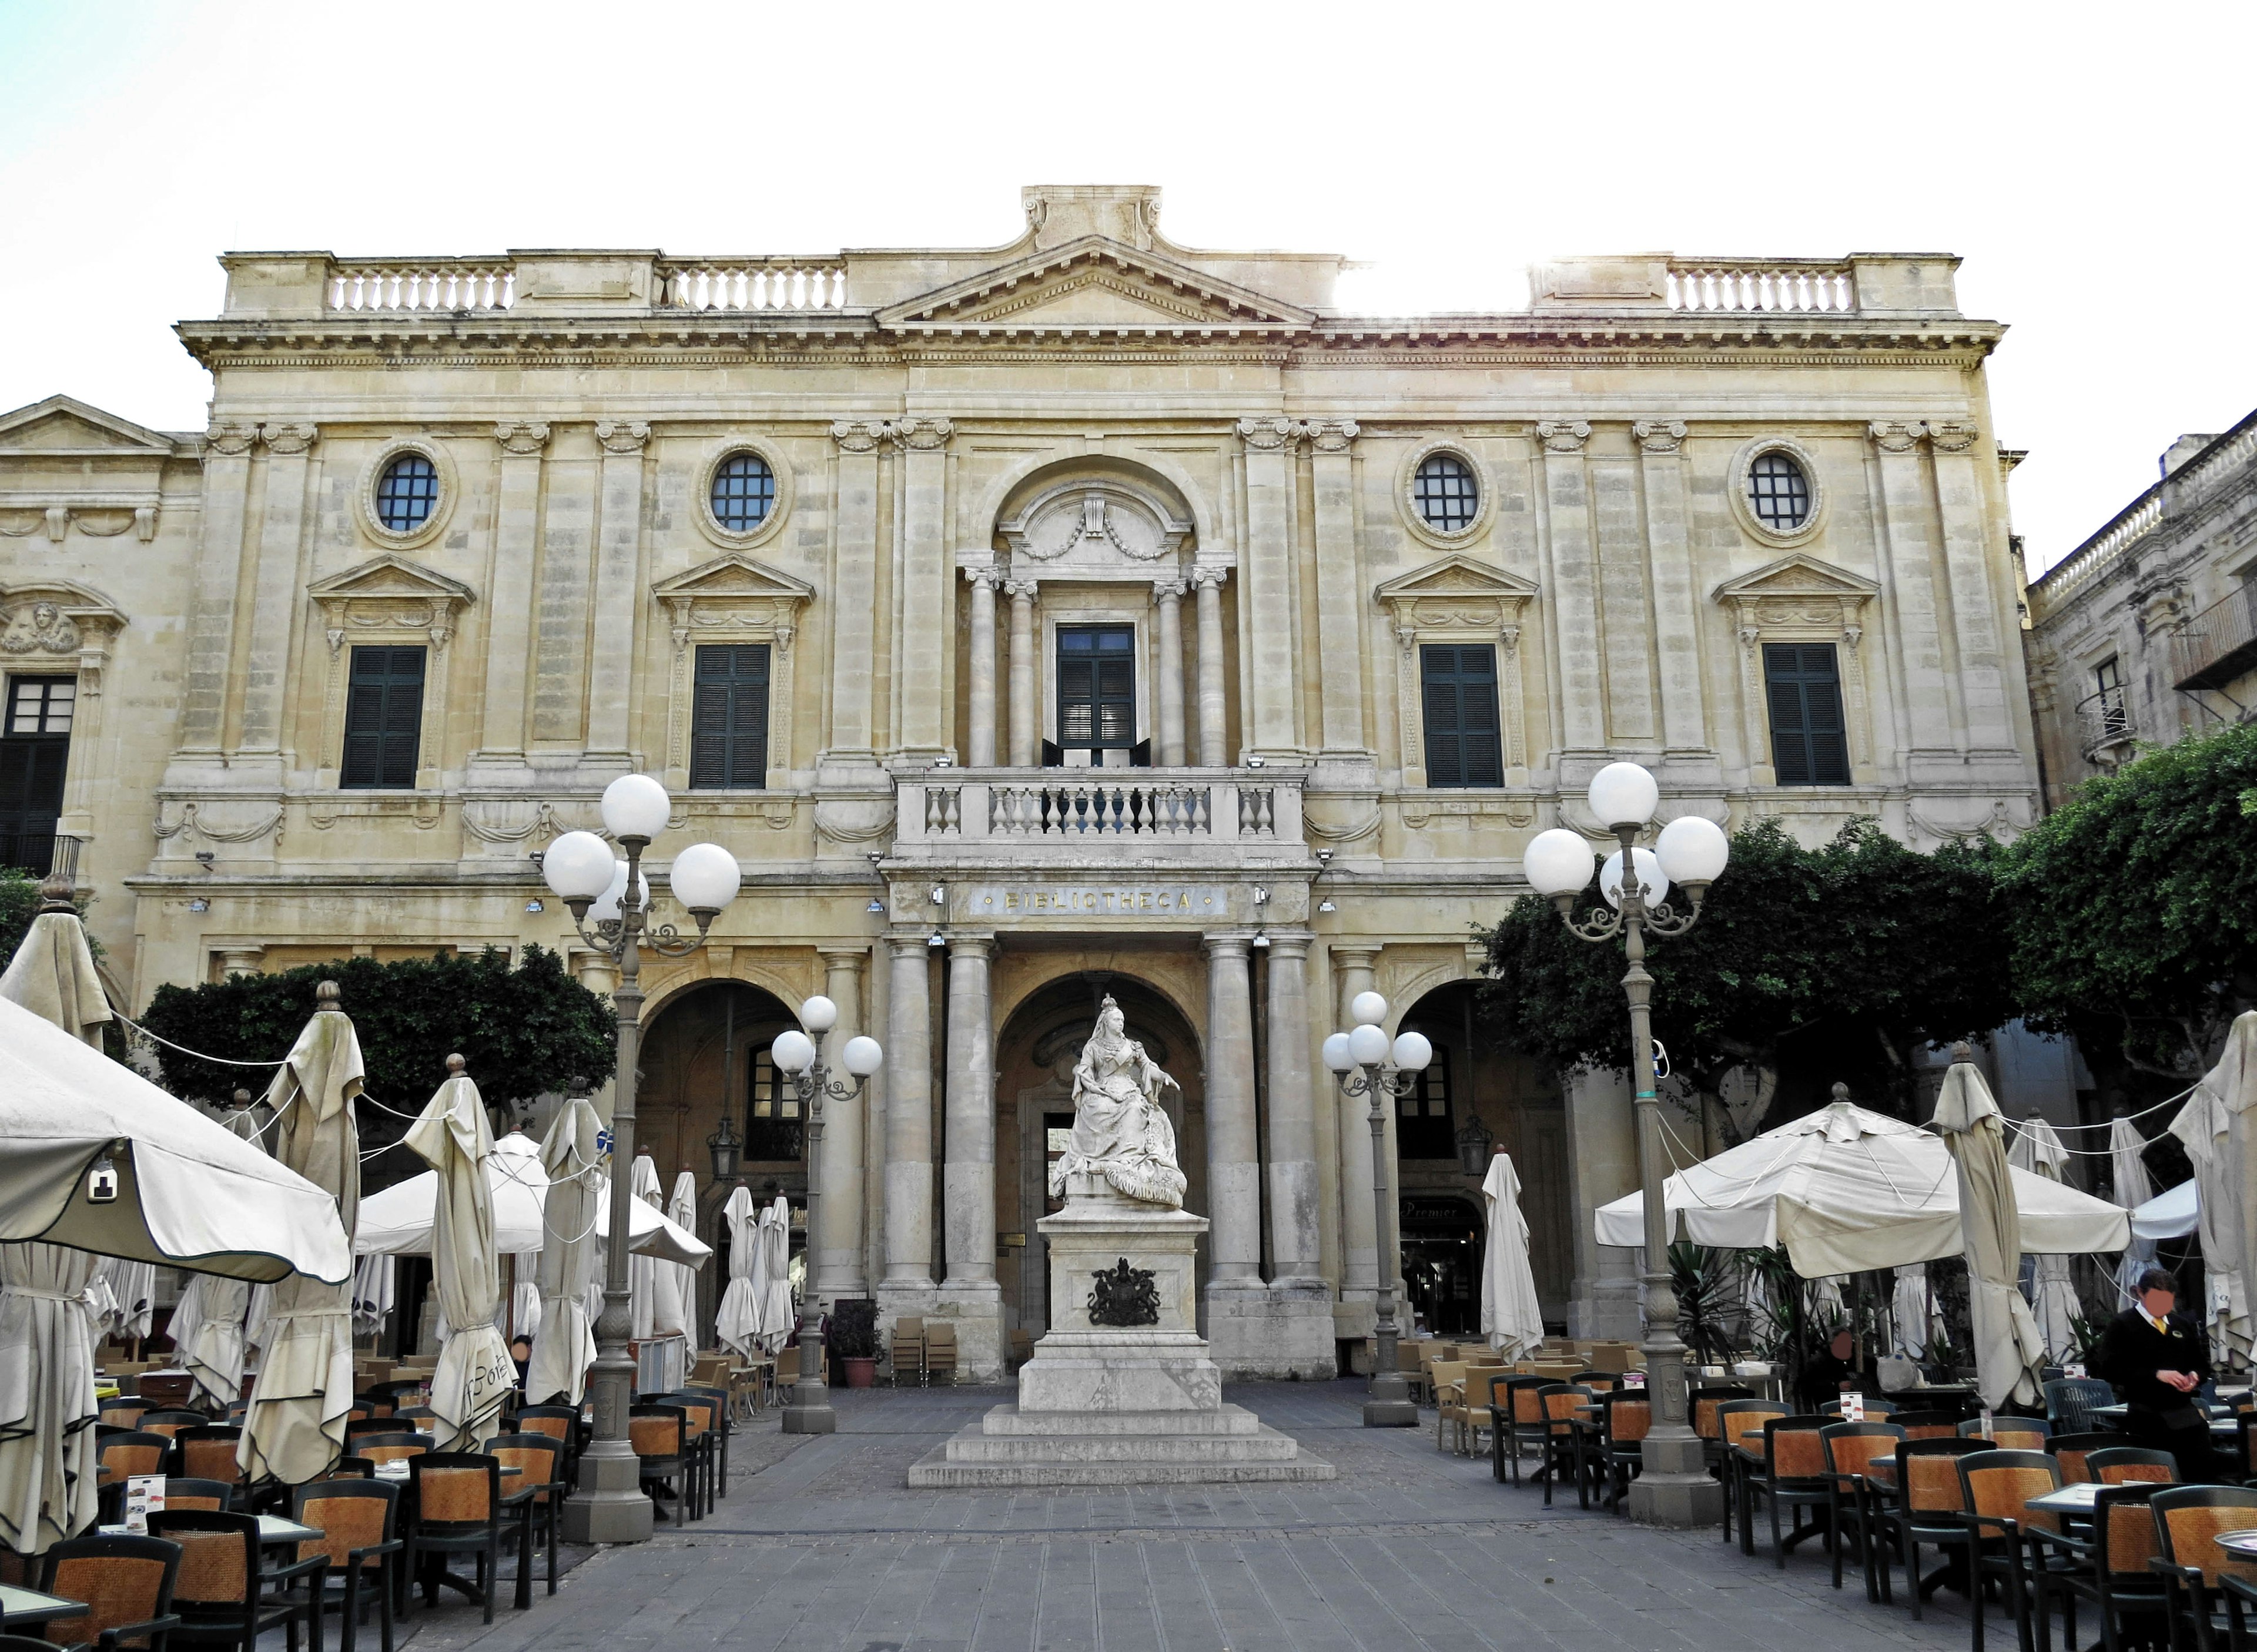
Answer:
[[697, 1178], [697, 1237], [713, 1246], [713, 1262], [697, 1271], [697, 1341], [711, 1343], [713, 1311], [729, 1282], [729, 1232], [720, 1219], [729, 1187], [713, 1183], [706, 1137], [729, 1113], [745, 1142], [740, 1180], [763, 1205], [779, 1194], [792, 1205], [792, 1291], [799, 1291], [808, 1237], [808, 1158], [799, 1099], [779, 1081], [767, 1049], [797, 1018], [774, 993], [745, 982], [700, 982], [666, 1000], [643, 1029], [636, 1086], [636, 1146], [675, 1185], [679, 1171]]

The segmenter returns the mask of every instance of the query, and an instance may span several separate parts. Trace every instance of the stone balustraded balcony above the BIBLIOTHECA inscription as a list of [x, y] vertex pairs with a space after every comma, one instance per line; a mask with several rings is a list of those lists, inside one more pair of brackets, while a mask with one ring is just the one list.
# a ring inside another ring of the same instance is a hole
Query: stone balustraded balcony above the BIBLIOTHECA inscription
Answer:
[[910, 860], [1273, 867], [1309, 853], [1298, 770], [934, 767], [903, 774], [896, 797], [894, 855]]

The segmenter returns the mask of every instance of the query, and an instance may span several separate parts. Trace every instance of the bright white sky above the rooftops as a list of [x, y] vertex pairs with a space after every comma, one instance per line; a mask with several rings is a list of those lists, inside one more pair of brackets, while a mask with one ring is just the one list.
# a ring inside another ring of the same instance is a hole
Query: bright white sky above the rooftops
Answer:
[[1555, 253], [1950, 251], [2013, 327], [2036, 566], [2257, 404], [2257, 7], [0, 0], [0, 408], [201, 429], [223, 248], [986, 246], [1156, 183], [1187, 246], [1519, 307]]

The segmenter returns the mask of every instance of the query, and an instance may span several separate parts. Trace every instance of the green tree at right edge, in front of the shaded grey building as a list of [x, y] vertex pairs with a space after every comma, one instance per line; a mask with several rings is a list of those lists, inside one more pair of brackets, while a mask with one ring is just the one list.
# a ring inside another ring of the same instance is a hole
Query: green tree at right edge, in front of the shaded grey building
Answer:
[[2016, 991], [2088, 1058], [2183, 1079], [2257, 1000], [2257, 724], [2085, 781], [2002, 855]]

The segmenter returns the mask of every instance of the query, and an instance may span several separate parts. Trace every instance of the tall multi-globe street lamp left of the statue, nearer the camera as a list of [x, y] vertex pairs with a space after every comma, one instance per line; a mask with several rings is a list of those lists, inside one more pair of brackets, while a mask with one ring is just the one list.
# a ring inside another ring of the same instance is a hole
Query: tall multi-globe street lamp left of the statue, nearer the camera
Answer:
[[[666, 788], [648, 774], [621, 774], [603, 792], [603, 826], [625, 860], [596, 833], [564, 833], [542, 853], [542, 878], [564, 898], [580, 939], [618, 966], [618, 1079], [612, 1101], [612, 1219], [603, 1255], [603, 1313], [596, 1316], [596, 1365], [589, 1390], [596, 1429], [580, 1453], [580, 1483], [564, 1499], [564, 1539], [571, 1544], [639, 1544], [650, 1537], [650, 1499], [643, 1494], [641, 1460], [627, 1440], [627, 1399], [634, 1392], [634, 1359], [627, 1338], [634, 1327], [627, 1293], [627, 1201], [634, 1196], [627, 1167], [634, 1165], [634, 1065], [643, 1034], [643, 948], [659, 957], [684, 957], [704, 946], [720, 910], [736, 900], [743, 873], [736, 855], [720, 844], [691, 844], [666, 873], [675, 900], [697, 919], [697, 937], [675, 925], [650, 925], [650, 885], [643, 851], [666, 831], [673, 815]], [[594, 930], [589, 928], [594, 919]]]

